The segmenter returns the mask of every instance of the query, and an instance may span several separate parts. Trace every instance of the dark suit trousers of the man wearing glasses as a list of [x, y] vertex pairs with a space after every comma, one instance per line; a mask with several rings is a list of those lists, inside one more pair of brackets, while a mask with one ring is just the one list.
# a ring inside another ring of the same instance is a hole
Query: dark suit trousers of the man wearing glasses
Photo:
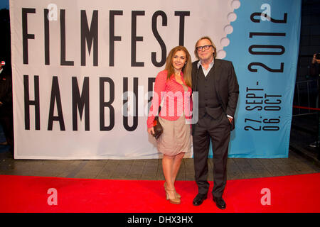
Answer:
[[213, 148], [213, 191], [221, 197], [227, 182], [228, 145], [230, 141], [230, 122], [224, 114], [217, 119], [205, 114], [194, 126], [193, 160], [198, 184], [198, 193], [207, 194], [208, 152], [210, 140]]

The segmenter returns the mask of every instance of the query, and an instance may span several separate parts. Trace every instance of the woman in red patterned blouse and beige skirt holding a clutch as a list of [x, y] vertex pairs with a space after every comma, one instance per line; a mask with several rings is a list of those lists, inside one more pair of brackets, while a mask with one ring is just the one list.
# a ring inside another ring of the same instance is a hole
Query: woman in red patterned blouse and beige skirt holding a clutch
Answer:
[[181, 160], [190, 150], [191, 118], [191, 57], [183, 46], [177, 46], [166, 58], [165, 70], [159, 72], [154, 84], [154, 98], [147, 120], [148, 133], [154, 134], [154, 117], [158, 114], [161, 99], [164, 104], [159, 113], [159, 122], [164, 132], [157, 140], [158, 150], [163, 153], [164, 189], [166, 199], [171, 204], [180, 204], [181, 196], [176, 193], [174, 182], [181, 165]]

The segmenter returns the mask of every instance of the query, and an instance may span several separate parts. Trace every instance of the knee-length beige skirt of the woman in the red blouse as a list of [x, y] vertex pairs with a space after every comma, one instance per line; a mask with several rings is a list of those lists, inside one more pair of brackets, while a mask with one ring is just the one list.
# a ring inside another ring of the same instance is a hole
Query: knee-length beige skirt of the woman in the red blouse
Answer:
[[164, 132], [157, 140], [158, 150], [164, 155], [188, 153], [191, 149], [191, 128], [186, 124], [186, 117], [181, 116], [176, 121], [168, 121], [159, 117]]

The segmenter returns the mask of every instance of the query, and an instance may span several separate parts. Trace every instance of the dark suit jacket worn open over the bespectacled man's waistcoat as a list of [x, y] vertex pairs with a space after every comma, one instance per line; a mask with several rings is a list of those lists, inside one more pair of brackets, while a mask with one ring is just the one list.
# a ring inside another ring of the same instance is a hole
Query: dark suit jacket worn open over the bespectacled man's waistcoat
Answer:
[[[192, 90], [197, 89], [198, 61], [192, 63]], [[233, 63], [227, 60], [215, 59], [212, 69], [215, 82], [215, 90], [225, 114], [233, 116], [231, 130], [235, 128], [235, 109], [237, 108], [239, 96], [239, 84], [233, 68]], [[210, 70], [210, 72], [211, 72]], [[193, 106], [197, 108], [198, 106]]]

